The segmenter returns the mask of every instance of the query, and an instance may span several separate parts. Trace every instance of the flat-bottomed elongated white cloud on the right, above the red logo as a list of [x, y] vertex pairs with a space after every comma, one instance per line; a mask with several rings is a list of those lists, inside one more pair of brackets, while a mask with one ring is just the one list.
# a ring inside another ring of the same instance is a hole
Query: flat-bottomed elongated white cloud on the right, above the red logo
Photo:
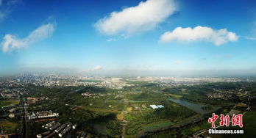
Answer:
[[172, 32], [165, 32], [161, 37], [161, 42], [170, 42], [177, 40], [179, 42], [190, 42], [205, 40], [210, 43], [214, 43], [216, 46], [220, 46], [227, 42], [234, 42], [238, 40], [238, 36], [234, 32], [228, 32], [227, 29], [211, 29], [205, 26], [196, 26], [191, 29], [177, 27]]

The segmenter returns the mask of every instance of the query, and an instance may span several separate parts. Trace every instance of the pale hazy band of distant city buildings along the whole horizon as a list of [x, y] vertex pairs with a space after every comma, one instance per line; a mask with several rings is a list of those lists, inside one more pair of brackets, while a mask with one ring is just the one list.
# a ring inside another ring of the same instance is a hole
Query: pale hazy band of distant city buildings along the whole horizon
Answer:
[[[88, 75], [60, 75], [60, 74], [21, 74], [15, 76], [8, 81], [8, 84], [35, 84], [36, 86], [46, 87], [65, 87], [65, 86], [95, 86], [110, 87], [113, 89], [123, 89], [124, 87], [134, 86], [129, 81], [148, 81], [160, 82], [159, 87], [174, 87], [179, 85], [193, 86], [194, 84], [202, 84], [207, 82], [238, 82], [252, 81], [249, 79], [238, 78], [218, 78], [218, 77], [105, 77], [105, 76], [88, 76]], [[255, 81], [255, 80], [253, 80]], [[0, 84], [1, 86], [1, 84]]]

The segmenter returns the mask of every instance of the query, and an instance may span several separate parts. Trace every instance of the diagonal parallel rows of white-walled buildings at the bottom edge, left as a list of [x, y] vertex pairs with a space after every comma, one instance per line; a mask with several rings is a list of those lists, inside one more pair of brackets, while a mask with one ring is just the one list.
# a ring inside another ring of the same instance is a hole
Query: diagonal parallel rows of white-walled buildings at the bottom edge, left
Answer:
[[[49, 134], [46, 137], [52, 137], [54, 134], [57, 134], [59, 137], [63, 137], [65, 136], [65, 134], [68, 133], [68, 131], [71, 131], [71, 129], [76, 129], [77, 128], [77, 124], [72, 125], [72, 123], [68, 122], [68, 123], [64, 123], [61, 125], [61, 123], [59, 122], [55, 122], [54, 120], [51, 121], [50, 123], [46, 123], [46, 125], [43, 125], [42, 128], [46, 128], [49, 129], [50, 131], [53, 131], [51, 134]], [[49, 132], [49, 131], [47, 131]], [[43, 137], [44, 134], [38, 134], [37, 137], [41, 138]]]

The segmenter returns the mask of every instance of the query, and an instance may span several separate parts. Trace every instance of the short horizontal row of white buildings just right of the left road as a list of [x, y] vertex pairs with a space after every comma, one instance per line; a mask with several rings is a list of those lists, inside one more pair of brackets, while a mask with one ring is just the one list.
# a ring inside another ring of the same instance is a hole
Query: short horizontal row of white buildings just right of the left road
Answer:
[[32, 112], [31, 115], [28, 115], [29, 120], [38, 119], [38, 118], [47, 118], [47, 117], [58, 117], [59, 113], [49, 111], [40, 111]]

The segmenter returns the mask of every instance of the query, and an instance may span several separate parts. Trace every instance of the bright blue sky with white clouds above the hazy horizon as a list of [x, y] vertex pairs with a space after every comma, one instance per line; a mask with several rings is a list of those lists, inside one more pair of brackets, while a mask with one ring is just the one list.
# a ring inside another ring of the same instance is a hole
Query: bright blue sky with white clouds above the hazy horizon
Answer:
[[0, 73], [256, 73], [256, 2], [0, 0]]

